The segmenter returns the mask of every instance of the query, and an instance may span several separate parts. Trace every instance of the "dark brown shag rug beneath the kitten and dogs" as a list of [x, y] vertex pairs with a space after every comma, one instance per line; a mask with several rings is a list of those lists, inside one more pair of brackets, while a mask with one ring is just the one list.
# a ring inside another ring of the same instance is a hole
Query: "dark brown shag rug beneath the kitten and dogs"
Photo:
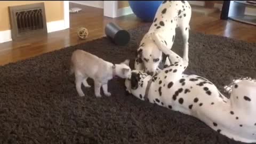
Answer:
[[[74, 50], [114, 63], [131, 59], [133, 68], [148, 29], [129, 30], [126, 46], [103, 37], [0, 67], [0, 143], [240, 143], [196, 118], [126, 95], [124, 79], [109, 82], [111, 97], [95, 98], [93, 87], [78, 97], [67, 73]], [[182, 44], [177, 30], [172, 50], [182, 55]], [[223, 93], [235, 77], [256, 78], [255, 60], [255, 43], [190, 31], [186, 73], [209, 79]]]

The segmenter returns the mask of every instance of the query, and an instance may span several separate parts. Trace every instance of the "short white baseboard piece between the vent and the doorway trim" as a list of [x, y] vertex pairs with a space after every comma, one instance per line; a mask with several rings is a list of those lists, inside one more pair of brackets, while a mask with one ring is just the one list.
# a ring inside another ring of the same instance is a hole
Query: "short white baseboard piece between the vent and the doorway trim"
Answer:
[[64, 20], [47, 22], [47, 33], [52, 33], [54, 31], [63, 29], [66, 29]]

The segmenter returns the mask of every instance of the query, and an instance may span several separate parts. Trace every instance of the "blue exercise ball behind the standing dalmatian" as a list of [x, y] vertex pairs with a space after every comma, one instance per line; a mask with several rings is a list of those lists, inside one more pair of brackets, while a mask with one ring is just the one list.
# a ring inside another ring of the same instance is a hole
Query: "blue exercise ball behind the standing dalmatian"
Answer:
[[133, 13], [143, 21], [152, 22], [163, 1], [129, 1]]

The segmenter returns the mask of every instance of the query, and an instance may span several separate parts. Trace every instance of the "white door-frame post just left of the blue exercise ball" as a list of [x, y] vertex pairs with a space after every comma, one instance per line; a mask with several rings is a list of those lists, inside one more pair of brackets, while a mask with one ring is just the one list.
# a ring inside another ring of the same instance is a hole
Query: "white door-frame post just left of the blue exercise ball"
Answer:
[[116, 18], [117, 17], [117, 2], [118, 1], [103, 1], [104, 8], [103, 13], [105, 17]]

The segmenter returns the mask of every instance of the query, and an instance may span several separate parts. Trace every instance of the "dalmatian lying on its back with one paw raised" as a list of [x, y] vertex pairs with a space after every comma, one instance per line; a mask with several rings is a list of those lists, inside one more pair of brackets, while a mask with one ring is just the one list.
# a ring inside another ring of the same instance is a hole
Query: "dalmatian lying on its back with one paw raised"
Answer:
[[153, 37], [171, 65], [154, 76], [133, 70], [131, 79], [125, 80], [126, 91], [141, 100], [194, 116], [230, 139], [256, 142], [256, 82], [234, 84], [227, 99], [207, 79], [183, 74], [188, 61], [169, 50], [159, 36]]

